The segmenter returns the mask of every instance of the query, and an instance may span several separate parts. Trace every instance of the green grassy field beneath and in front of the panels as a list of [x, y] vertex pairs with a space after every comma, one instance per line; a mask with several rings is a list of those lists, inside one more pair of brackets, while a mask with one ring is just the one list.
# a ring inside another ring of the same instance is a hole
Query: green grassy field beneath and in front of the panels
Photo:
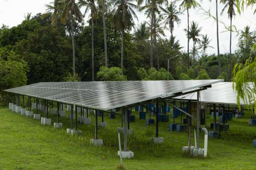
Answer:
[[[67, 117], [60, 119], [63, 129], [56, 130], [52, 125], [41, 125], [38, 120], [0, 108], [0, 170], [116, 170], [119, 165], [116, 128], [120, 126], [120, 116], [116, 119], [105, 116], [108, 127], [99, 129], [103, 147], [90, 145], [94, 136], [94, 117], [90, 117], [92, 125], [78, 125], [82, 136], [70, 136], [66, 133], [70, 127]], [[243, 119], [233, 119], [229, 122], [229, 132], [222, 133], [220, 139], [209, 139], [205, 159], [184, 155], [182, 146], [187, 145], [187, 133], [170, 132], [169, 123], [160, 123], [159, 134], [164, 137], [164, 144], [151, 144], [155, 126], [146, 126], [145, 120], [136, 119], [130, 124], [134, 136], [128, 139], [134, 159], [124, 160], [125, 169], [254, 170], [256, 149], [252, 140], [256, 139], [256, 127], [248, 126], [249, 117], [247, 113]], [[52, 124], [56, 122], [56, 115], [50, 118]], [[211, 116], [207, 122], [212, 122]], [[203, 133], [201, 139], [202, 145]]]

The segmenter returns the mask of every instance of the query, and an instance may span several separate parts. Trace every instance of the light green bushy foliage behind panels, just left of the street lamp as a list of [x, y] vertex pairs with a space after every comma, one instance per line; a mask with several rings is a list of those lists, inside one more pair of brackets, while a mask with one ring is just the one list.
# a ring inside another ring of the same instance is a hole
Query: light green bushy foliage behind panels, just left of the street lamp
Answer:
[[[141, 80], [167, 80], [167, 71], [165, 68], [160, 68], [157, 71], [155, 68], [150, 68], [146, 71], [144, 68], [138, 69], [138, 75]], [[172, 80], [173, 77], [169, 73], [169, 80]]]

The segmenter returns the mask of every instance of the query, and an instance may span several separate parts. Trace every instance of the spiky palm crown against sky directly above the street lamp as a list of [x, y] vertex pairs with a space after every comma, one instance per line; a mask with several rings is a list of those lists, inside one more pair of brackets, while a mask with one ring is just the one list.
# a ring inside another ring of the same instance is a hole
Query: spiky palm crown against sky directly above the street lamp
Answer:
[[[174, 29], [174, 22], [176, 22], [178, 25], [180, 24], [180, 18], [178, 17], [178, 15], [180, 14], [180, 11], [177, 11], [177, 7], [175, 5], [175, 1], [171, 2], [169, 4], [169, 6], [165, 8], [160, 7], [163, 11], [163, 16], [164, 18], [166, 18], [165, 22], [165, 28], [166, 25], [169, 24], [169, 29], [171, 31], [171, 35], [172, 35], [172, 31]], [[173, 35], [172, 35], [173, 36]]]

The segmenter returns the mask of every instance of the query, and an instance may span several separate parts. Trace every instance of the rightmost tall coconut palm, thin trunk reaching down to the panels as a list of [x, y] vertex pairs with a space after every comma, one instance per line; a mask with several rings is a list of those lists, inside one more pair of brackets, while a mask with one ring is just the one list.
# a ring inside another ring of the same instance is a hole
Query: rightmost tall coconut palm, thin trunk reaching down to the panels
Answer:
[[231, 54], [231, 37], [232, 37], [232, 19], [236, 16], [235, 8], [237, 8], [236, 0], [220, 0], [221, 3], [224, 4], [224, 8], [221, 11], [223, 14], [224, 10], [227, 9], [227, 14], [230, 19], [230, 69], [229, 69], [229, 79], [231, 80], [231, 72], [232, 72], [232, 54]]

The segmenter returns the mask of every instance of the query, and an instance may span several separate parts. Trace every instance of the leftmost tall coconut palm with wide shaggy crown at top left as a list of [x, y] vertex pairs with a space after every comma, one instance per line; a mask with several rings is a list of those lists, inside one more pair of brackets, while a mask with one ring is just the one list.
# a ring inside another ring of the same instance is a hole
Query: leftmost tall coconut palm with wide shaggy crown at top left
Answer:
[[82, 22], [83, 15], [76, 3], [76, 0], [54, 0], [53, 6], [46, 5], [47, 11], [52, 11], [52, 26], [56, 27], [57, 19], [60, 18], [63, 25], [67, 22], [71, 24], [72, 50], [73, 50], [73, 77], [76, 76], [76, 57], [75, 57], [75, 40], [74, 40], [74, 24], [76, 21]]

